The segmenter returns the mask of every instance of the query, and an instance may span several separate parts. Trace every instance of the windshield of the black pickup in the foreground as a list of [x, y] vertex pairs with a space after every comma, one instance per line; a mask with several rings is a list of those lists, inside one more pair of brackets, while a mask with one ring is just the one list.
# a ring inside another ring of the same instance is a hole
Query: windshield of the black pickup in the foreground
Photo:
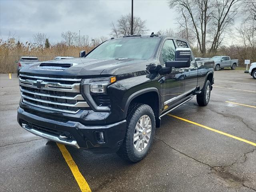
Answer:
[[96, 59], [148, 59], [154, 54], [160, 38], [123, 38], [108, 40], [86, 58]]

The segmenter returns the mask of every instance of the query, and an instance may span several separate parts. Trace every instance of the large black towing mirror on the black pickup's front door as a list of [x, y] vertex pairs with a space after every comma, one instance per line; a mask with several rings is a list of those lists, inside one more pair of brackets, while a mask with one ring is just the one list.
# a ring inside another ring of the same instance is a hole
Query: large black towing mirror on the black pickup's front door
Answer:
[[190, 48], [176, 48], [175, 61], [166, 61], [166, 67], [185, 68], [190, 67], [191, 49]]

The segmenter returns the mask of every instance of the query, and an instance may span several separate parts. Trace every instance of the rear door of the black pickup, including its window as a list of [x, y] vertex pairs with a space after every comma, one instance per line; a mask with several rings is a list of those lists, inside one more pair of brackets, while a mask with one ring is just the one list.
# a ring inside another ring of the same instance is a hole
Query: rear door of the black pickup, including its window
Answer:
[[[178, 48], [189, 48], [188, 44], [184, 41], [176, 40]], [[185, 72], [185, 88], [184, 94], [190, 94], [195, 90], [198, 80], [198, 67], [194, 59], [193, 53], [191, 53], [191, 63], [190, 67], [184, 68]]]

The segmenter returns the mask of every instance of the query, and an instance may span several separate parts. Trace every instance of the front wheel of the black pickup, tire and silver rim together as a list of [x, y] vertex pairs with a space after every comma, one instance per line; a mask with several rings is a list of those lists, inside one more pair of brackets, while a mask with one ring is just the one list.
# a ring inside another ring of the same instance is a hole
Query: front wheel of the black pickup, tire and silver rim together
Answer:
[[138, 162], [152, 146], [156, 127], [154, 112], [146, 104], [131, 104], [126, 120], [125, 138], [117, 154], [131, 162]]

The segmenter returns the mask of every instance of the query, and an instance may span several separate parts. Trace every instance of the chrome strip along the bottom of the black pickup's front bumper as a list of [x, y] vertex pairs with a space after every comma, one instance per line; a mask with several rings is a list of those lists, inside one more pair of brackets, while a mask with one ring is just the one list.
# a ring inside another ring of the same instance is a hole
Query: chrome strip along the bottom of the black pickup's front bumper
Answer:
[[58, 137], [56, 137], [54, 135], [42, 133], [42, 132], [40, 132], [38, 130], [32, 129], [27, 124], [24, 124], [24, 123], [22, 123], [22, 128], [24, 128], [28, 132], [30, 132], [30, 133], [32, 133], [34, 135], [40, 136], [42, 138], [46, 138], [48, 140], [51, 140], [51, 141], [54, 141], [54, 142], [57, 142], [57, 143], [60, 143], [60, 144], [64, 144], [64, 145], [70, 145], [70, 146], [75, 147], [75, 148], [80, 148], [78, 146], [76, 140], [72, 140], [70, 142], [69, 141], [64, 141], [64, 140], [61, 140], [60, 138], [58, 138]]

